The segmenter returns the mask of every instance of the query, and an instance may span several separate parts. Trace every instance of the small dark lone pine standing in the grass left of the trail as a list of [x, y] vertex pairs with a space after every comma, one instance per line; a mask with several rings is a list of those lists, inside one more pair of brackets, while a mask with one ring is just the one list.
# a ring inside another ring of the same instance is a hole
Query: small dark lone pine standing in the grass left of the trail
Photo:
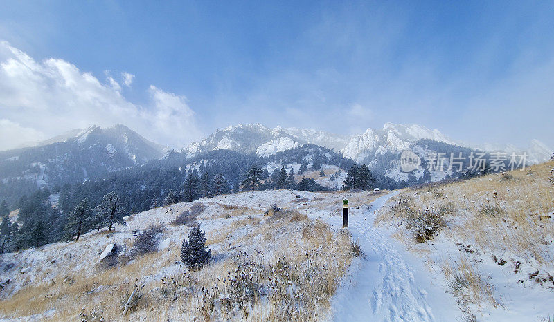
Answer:
[[188, 241], [183, 240], [181, 246], [181, 261], [189, 269], [196, 269], [208, 263], [211, 258], [211, 249], [206, 246], [206, 236], [200, 229], [200, 224], [196, 225], [188, 232]]

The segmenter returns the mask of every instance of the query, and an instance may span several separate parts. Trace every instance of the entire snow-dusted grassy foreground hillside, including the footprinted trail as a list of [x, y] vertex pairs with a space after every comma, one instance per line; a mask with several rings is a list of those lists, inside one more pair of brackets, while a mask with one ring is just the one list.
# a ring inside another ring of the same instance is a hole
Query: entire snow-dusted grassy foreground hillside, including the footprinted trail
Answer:
[[[251, 191], [151, 209], [111, 233], [3, 254], [0, 281], [10, 283], [0, 290], [0, 319], [121, 319], [120, 302], [144, 285], [125, 319], [542, 321], [554, 303], [554, 216], [540, 201], [551, 193], [551, 165], [419, 190]], [[343, 198], [348, 229], [341, 229]], [[268, 215], [274, 204], [283, 212]], [[443, 209], [446, 224], [418, 243], [406, 209], [420, 214], [425, 206]], [[192, 272], [179, 258], [190, 226], [172, 221], [195, 207], [213, 258]], [[158, 251], [126, 258], [149, 225], [165, 227]], [[100, 263], [113, 244], [112, 266]], [[244, 265], [244, 258], [257, 259]], [[251, 284], [259, 299], [231, 296], [224, 277], [241, 269], [265, 276]]]

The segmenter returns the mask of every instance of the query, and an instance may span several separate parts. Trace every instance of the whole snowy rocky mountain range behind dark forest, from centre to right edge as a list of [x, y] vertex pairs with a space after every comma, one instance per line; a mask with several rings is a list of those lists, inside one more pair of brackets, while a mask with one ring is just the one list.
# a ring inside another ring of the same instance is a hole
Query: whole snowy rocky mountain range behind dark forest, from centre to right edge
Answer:
[[506, 153], [524, 151], [528, 153], [528, 163], [544, 162], [553, 150], [533, 140], [527, 149], [514, 146], [471, 146], [456, 142], [437, 129], [428, 129], [418, 124], [393, 124], [386, 122], [382, 129], [368, 128], [359, 135], [337, 135], [311, 129], [282, 128], [269, 129], [262, 124], [238, 124], [217, 130], [200, 142], [194, 142], [183, 149], [188, 158], [199, 153], [217, 149], [229, 149], [240, 153], [256, 153], [258, 156], [273, 155], [294, 149], [302, 144], [316, 144], [334, 151], [340, 151], [345, 158], [370, 164], [378, 155], [399, 153], [412, 149], [419, 140], [427, 139], [452, 146], [465, 146], [482, 151], [503, 151]]

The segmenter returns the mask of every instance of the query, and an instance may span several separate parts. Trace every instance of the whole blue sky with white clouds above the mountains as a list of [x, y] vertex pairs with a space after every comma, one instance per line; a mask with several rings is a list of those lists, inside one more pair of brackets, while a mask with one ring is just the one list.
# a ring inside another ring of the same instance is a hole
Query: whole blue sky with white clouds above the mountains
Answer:
[[554, 146], [552, 30], [552, 1], [3, 1], [0, 149], [92, 124], [178, 148], [387, 121]]

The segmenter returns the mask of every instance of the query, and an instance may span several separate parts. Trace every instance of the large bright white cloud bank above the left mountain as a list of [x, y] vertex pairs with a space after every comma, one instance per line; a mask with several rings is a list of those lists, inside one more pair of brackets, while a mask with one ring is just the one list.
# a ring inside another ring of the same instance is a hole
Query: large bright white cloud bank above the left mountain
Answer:
[[[131, 84], [132, 75], [127, 79]], [[35, 61], [1, 41], [0, 119], [9, 126], [0, 132], [0, 149], [92, 124], [125, 124], [150, 140], [175, 148], [199, 138], [195, 113], [184, 97], [154, 86], [148, 93], [152, 106], [133, 104], [111, 77], [103, 84], [67, 61]]]

